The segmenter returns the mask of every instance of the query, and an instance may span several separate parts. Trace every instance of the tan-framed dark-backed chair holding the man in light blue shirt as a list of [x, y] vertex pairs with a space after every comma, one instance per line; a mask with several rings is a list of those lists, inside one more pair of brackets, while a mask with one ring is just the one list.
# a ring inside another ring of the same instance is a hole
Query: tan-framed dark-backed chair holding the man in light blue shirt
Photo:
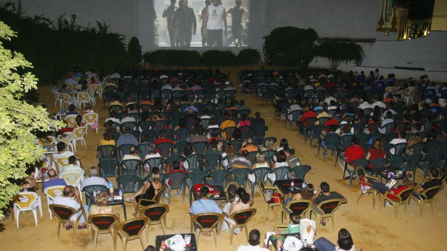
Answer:
[[[214, 246], [217, 247], [216, 234], [220, 234], [220, 223], [222, 221], [222, 214], [215, 212], [199, 213], [191, 218], [190, 233], [196, 233], [199, 230], [199, 235], [196, 234], [199, 242], [202, 232], [212, 232], [214, 236]], [[197, 226], [197, 227], [196, 227]]]

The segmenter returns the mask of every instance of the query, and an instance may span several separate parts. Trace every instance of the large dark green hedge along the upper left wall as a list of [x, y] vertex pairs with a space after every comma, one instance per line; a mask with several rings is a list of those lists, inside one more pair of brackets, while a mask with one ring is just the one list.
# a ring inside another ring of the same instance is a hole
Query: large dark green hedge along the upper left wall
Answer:
[[124, 37], [109, 32], [108, 25], [97, 22], [97, 27], [81, 27], [75, 20], [60, 16], [51, 21], [42, 16], [25, 17], [20, 8], [7, 3], [0, 6], [0, 17], [17, 38], [5, 47], [20, 51], [33, 63], [33, 74], [39, 84], [50, 84], [67, 77], [71, 67], [83, 70], [107, 71], [132, 67], [125, 49]]

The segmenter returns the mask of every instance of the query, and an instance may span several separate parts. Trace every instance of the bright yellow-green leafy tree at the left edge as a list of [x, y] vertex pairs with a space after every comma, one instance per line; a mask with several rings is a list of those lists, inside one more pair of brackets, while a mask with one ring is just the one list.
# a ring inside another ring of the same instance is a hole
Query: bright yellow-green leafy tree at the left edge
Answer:
[[14, 181], [25, 177], [27, 166], [43, 153], [33, 131], [61, 125], [49, 119], [43, 107], [23, 101], [24, 93], [37, 88], [38, 79], [26, 72], [33, 65], [23, 54], [5, 49], [3, 41], [13, 37], [16, 32], [0, 21], [0, 209], [18, 192]]

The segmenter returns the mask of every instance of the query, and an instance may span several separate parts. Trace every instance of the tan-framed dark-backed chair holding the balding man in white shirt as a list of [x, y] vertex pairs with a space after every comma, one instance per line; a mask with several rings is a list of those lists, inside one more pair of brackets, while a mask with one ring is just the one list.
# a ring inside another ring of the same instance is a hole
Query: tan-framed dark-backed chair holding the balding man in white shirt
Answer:
[[[49, 205], [52, 212], [54, 212], [54, 215], [59, 219], [57, 223], [57, 238], [59, 238], [60, 234], [60, 224], [62, 223], [68, 223], [73, 226], [73, 239], [76, 239], [76, 229], [77, 224], [81, 217], [83, 216], [84, 219], [87, 219], [87, 215], [84, 211], [84, 207], [81, 206], [78, 210], [74, 209], [73, 207], [65, 206], [65, 205], [58, 205], [58, 204], [51, 204]], [[80, 212], [80, 214], [73, 218], [76, 213]]]

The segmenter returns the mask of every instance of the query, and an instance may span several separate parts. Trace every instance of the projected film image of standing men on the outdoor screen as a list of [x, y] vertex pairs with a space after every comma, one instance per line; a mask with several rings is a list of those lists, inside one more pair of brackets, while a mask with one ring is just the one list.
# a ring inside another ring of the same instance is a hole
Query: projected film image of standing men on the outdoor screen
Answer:
[[248, 46], [249, 0], [155, 0], [154, 9], [158, 47]]

